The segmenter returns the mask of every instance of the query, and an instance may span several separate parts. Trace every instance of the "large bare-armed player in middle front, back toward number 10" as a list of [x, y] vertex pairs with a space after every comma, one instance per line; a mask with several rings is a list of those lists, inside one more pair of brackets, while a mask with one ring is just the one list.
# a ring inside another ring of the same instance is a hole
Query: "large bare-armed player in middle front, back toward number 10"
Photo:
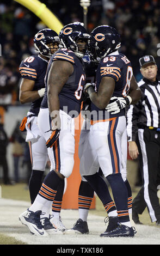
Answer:
[[[64, 48], [50, 59], [46, 74], [46, 90], [38, 117], [41, 132], [47, 139], [48, 156], [54, 159], [53, 170], [47, 174], [34, 203], [22, 216], [22, 223], [39, 235], [45, 230], [39, 227], [44, 205], [57, 193], [58, 185], [72, 173], [75, 152], [74, 117], [81, 111], [85, 72], [82, 58], [90, 38], [81, 23], [71, 23], [59, 33]], [[29, 214], [29, 218], [25, 218]], [[34, 219], [34, 221], [33, 221]], [[52, 221], [52, 220], [51, 220]], [[33, 232], [33, 231], [32, 231]]]

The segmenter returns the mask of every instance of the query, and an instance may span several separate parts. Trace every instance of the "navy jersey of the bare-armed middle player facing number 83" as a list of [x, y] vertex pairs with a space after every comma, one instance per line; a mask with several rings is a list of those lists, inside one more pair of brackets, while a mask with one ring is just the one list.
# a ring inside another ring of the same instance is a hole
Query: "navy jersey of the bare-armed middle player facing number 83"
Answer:
[[[71, 117], [75, 117], [72, 115], [71, 111], [76, 111], [78, 114], [81, 111], [81, 103], [82, 103], [82, 92], [83, 87], [85, 85], [85, 72], [83, 68], [83, 63], [81, 59], [77, 58], [75, 53], [66, 48], [62, 48], [58, 50], [50, 60], [47, 68], [47, 74], [45, 78], [46, 90], [44, 99], [41, 103], [41, 108], [47, 108], [47, 79], [48, 72], [50, 71], [52, 62], [56, 60], [65, 60], [70, 62], [73, 65], [74, 71], [73, 74], [69, 77], [69, 79], [64, 84], [61, 92], [59, 93], [59, 102], [60, 109]], [[61, 70], [63, 72], [63, 70]]]

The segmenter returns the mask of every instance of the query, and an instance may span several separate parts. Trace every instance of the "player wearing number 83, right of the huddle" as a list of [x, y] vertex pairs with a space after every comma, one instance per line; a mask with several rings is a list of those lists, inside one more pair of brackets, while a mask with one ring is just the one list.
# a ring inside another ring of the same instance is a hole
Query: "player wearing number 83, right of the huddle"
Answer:
[[[126, 129], [125, 111], [121, 109], [109, 116], [105, 109], [112, 96], [125, 97], [127, 104], [136, 103], [141, 96], [131, 62], [118, 52], [119, 47], [120, 38], [116, 29], [99, 26], [91, 32], [90, 50], [100, 64], [96, 71], [96, 86], [87, 83], [84, 87], [92, 102], [91, 127], [84, 143], [81, 174], [93, 188], [97, 188], [97, 182], [100, 184], [97, 168], [100, 166], [112, 188], [121, 224], [101, 234], [109, 237], [134, 236], [128, 214], [127, 189], [121, 177], [121, 139]], [[101, 196], [101, 190], [96, 193]]]

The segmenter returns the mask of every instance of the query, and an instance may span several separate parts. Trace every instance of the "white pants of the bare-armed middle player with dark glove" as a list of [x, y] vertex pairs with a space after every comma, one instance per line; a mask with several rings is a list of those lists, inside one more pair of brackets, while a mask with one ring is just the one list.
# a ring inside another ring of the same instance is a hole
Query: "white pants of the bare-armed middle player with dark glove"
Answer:
[[[48, 148], [48, 156], [51, 161], [52, 169], [63, 174], [66, 178], [72, 173], [75, 153], [75, 124], [64, 111], [59, 111], [61, 120], [61, 131], [57, 142], [52, 148]], [[51, 136], [51, 118], [48, 108], [40, 108], [38, 115], [38, 126], [45, 138]]]

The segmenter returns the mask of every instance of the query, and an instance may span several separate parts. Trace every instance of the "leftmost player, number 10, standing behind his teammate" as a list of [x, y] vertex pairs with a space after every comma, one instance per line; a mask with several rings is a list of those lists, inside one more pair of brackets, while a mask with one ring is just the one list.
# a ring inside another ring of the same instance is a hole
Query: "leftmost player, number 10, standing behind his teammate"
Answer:
[[[52, 29], [42, 29], [34, 36], [35, 51], [38, 55], [30, 56], [24, 59], [20, 64], [20, 74], [22, 81], [20, 85], [20, 102], [31, 102], [30, 109], [27, 113], [26, 120], [22, 122], [21, 130], [27, 130], [26, 142], [29, 142], [30, 157], [32, 161], [32, 175], [29, 180], [29, 193], [31, 204], [33, 204], [37, 196], [41, 184], [42, 176], [44, 174], [46, 162], [48, 160], [47, 148], [45, 138], [38, 127], [38, 113], [41, 105], [42, 98], [45, 93], [45, 74], [47, 70], [48, 61], [51, 56], [58, 50], [59, 36]], [[51, 169], [53, 163], [51, 162]], [[60, 214], [61, 198], [64, 191], [64, 182], [59, 187], [57, 197], [53, 205], [54, 215]], [[43, 209], [45, 212], [46, 210]], [[48, 232], [56, 231], [49, 221], [49, 212], [41, 218], [44, 228]], [[53, 218], [52, 218], [53, 220]], [[59, 220], [59, 218], [58, 218]], [[54, 223], [55, 224], [55, 223]], [[60, 224], [60, 222], [59, 222]], [[54, 225], [55, 226], [55, 225]], [[57, 227], [57, 223], [56, 223]]]

